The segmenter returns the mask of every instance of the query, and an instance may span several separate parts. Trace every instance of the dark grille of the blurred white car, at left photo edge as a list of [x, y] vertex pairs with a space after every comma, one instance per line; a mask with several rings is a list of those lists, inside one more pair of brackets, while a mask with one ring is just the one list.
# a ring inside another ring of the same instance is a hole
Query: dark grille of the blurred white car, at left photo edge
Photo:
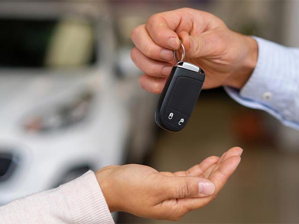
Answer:
[[0, 182], [10, 178], [15, 167], [14, 155], [0, 152]]

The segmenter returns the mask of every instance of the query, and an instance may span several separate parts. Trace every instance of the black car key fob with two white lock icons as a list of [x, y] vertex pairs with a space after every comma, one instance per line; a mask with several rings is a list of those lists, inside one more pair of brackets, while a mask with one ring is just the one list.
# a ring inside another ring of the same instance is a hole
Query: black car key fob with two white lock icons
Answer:
[[155, 121], [168, 131], [186, 126], [205, 79], [204, 71], [188, 62], [178, 62], [169, 74], [161, 93]]

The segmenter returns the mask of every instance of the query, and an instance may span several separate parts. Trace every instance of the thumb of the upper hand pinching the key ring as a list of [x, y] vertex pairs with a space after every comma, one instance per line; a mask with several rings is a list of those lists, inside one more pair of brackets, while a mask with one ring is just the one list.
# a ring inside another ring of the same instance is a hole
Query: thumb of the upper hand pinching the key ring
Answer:
[[182, 31], [178, 36], [182, 40], [186, 56], [189, 58], [212, 56], [218, 45], [217, 38], [219, 39], [213, 31], [203, 32], [197, 36], [191, 36], [188, 32]]

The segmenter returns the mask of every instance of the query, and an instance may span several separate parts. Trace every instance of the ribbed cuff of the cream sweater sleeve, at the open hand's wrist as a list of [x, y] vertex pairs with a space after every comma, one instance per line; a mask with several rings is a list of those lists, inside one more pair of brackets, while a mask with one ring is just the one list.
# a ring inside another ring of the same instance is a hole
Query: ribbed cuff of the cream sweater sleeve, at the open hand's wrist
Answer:
[[74, 224], [114, 224], [94, 172], [61, 185]]

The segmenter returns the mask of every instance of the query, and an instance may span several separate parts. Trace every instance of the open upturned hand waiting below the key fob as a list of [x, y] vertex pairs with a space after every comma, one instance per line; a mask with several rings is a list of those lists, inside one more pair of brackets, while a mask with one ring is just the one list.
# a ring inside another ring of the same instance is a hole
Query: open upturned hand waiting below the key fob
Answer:
[[233, 147], [220, 158], [210, 156], [175, 173], [137, 164], [108, 166], [96, 177], [111, 212], [176, 221], [216, 198], [240, 163], [241, 154], [241, 148]]

